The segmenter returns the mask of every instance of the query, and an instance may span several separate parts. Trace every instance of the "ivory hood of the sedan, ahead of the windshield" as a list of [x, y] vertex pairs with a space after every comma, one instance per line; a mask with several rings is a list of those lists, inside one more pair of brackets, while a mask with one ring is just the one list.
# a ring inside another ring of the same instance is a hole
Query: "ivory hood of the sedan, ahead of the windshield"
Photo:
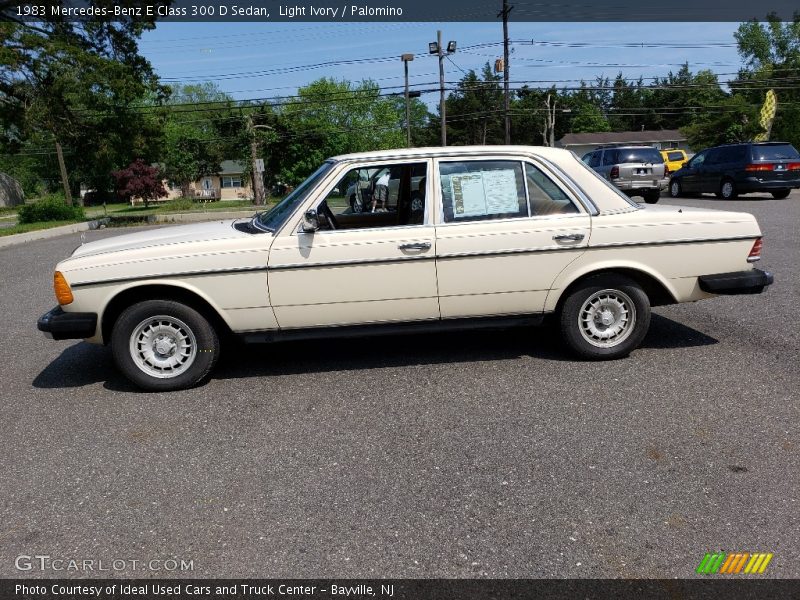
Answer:
[[227, 219], [191, 225], [177, 225], [114, 236], [107, 240], [82, 244], [72, 253], [72, 257], [77, 258], [121, 252], [123, 250], [141, 250], [154, 246], [173, 246], [246, 237], [248, 234], [234, 229], [233, 223], [235, 221], [236, 219]]

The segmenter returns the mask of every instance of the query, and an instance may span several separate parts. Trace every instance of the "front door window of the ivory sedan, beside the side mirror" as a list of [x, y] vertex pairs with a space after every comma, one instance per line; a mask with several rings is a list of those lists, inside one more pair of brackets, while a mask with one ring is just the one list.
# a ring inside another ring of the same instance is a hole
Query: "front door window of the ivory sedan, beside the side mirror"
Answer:
[[350, 169], [317, 207], [321, 229], [423, 224], [427, 169], [427, 163]]

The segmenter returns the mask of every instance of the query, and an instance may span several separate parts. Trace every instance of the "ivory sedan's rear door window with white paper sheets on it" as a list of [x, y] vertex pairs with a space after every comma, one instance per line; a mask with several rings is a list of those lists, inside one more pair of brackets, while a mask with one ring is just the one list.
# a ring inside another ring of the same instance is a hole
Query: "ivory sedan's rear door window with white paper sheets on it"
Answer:
[[522, 164], [480, 160], [439, 163], [446, 223], [528, 216]]

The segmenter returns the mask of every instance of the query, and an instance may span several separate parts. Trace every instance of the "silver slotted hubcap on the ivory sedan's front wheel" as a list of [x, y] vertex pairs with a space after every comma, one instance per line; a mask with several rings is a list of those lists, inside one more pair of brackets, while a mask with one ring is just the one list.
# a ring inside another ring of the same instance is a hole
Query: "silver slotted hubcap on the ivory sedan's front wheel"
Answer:
[[177, 377], [194, 362], [197, 340], [180, 319], [158, 315], [134, 328], [130, 353], [134, 364], [151, 377]]

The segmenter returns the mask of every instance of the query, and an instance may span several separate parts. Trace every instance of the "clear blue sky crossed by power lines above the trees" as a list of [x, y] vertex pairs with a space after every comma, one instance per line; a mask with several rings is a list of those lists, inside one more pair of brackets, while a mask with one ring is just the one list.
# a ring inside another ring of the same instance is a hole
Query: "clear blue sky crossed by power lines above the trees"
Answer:
[[[663, 76], [686, 61], [692, 71], [711, 69], [726, 81], [741, 66], [733, 39], [737, 27], [738, 23], [512, 21], [509, 37], [520, 41], [513, 45], [512, 86], [547, 86], [543, 82], [552, 81], [558, 87], [577, 85], [582, 78], [593, 81], [599, 75], [613, 79], [620, 71], [634, 79]], [[323, 76], [371, 78], [386, 91], [401, 91], [399, 57], [405, 52], [416, 55], [410, 64], [411, 84], [422, 89], [438, 86], [436, 57], [427, 54], [437, 29], [445, 41], [458, 42], [456, 54], [445, 61], [448, 82], [460, 79], [462, 70], [479, 70], [502, 56], [502, 45], [474, 47], [501, 42], [500, 22], [160, 23], [144, 34], [140, 48], [165, 82], [213, 81], [236, 99], [293, 95], [299, 86]], [[363, 62], [320, 64], [349, 60]], [[438, 102], [436, 93], [422, 98], [431, 106]]]

